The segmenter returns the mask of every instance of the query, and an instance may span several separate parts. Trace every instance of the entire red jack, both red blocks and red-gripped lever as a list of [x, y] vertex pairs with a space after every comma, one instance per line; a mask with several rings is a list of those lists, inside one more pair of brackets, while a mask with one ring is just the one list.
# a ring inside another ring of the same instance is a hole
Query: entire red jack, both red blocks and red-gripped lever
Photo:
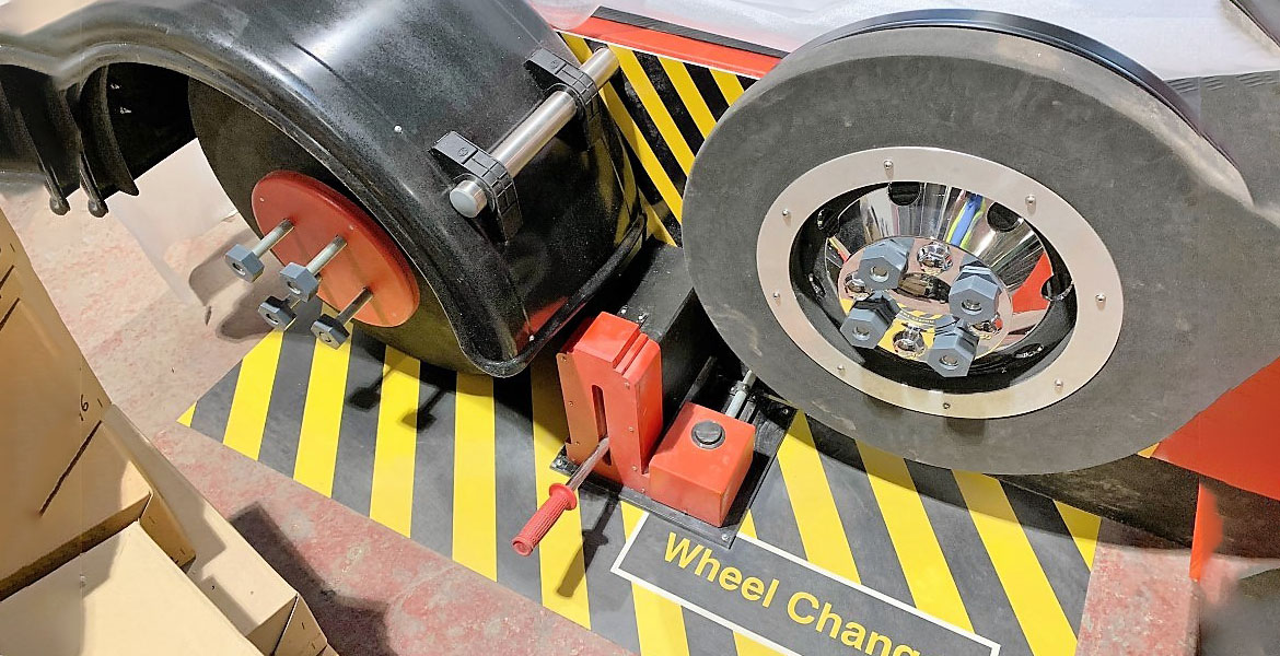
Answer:
[[567, 485], [550, 487], [512, 541], [517, 554], [531, 554], [561, 514], [577, 506], [576, 490], [588, 473], [723, 526], [751, 464], [754, 426], [686, 403], [662, 435], [658, 343], [607, 312], [575, 334], [557, 363], [570, 432], [564, 451], [579, 469]]

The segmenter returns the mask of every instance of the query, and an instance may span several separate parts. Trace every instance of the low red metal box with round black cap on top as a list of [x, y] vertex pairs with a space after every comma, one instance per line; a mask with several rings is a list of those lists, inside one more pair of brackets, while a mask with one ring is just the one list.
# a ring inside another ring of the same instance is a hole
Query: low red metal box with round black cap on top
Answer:
[[[700, 444], [694, 436], [699, 425], [703, 430], [718, 426], [719, 444]], [[754, 451], [754, 426], [687, 403], [649, 463], [649, 495], [703, 522], [723, 526]]]

